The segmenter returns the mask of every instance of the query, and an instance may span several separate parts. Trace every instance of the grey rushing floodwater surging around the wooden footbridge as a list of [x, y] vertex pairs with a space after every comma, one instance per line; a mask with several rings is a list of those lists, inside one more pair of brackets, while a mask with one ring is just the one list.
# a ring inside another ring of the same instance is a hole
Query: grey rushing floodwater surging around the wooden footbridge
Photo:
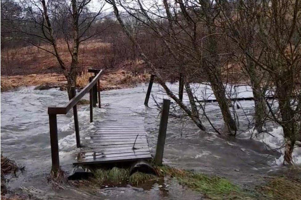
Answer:
[[[170, 85], [176, 91], [177, 85]], [[100, 120], [102, 113], [106, 112], [107, 105], [130, 106], [133, 111], [145, 116], [147, 139], [151, 152], [155, 152], [156, 138], [159, 129], [159, 110], [156, 103], [150, 98], [149, 108], [143, 105], [147, 85], [141, 84], [135, 88], [124, 90], [110, 90], [101, 92], [103, 108], [94, 108], [94, 120]], [[194, 85], [196, 96], [206, 99], [214, 98], [210, 88], [206, 85]], [[236, 96], [250, 96], [249, 88], [228, 88], [236, 91]], [[154, 84], [153, 97], [158, 103], [166, 98], [161, 88]], [[85, 96], [88, 99], [88, 96]], [[199, 198], [199, 194], [187, 192], [176, 182], [166, 180], [162, 187], [157, 183], [147, 186], [147, 189], [126, 186], [122, 188], [105, 188], [97, 190], [97, 195], [91, 194], [89, 189], [75, 189], [53, 191], [47, 184], [46, 176], [51, 168], [51, 152], [48, 125], [48, 106], [64, 105], [67, 102], [66, 91], [58, 89], [34, 90], [34, 87], [19, 88], [1, 92], [1, 151], [5, 156], [15, 160], [20, 166], [25, 166], [25, 172], [18, 178], [10, 181], [11, 189], [28, 188], [34, 186], [35, 192], [45, 198]], [[183, 101], [188, 101], [184, 95]], [[282, 161], [280, 151], [273, 152], [266, 148], [264, 143], [271, 147], [282, 144], [281, 128], [270, 127], [268, 131], [273, 134], [261, 135], [260, 139], [250, 140], [249, 123], [254, 114], [253, 101], [237, 102], [239, 116], [239, 133], [236, 139], [219, 137], [218, 134], [200, 131], [190, 120], [170, 117], [167, 128], [164, 163], [186, 169], [197, 170], [209, 174], [219, 174], [228, 177], [239, 184], [256, 182], [258, 177], [269, 173], [283, 171], [279, 165]], [[177, 108], [171, 111], [178, 113]], [[206, 113], [214, 126], [222, 132], [223, 120], [216, 104], [208, 104]], [[80, 135], [83, 140], [86, 133], [93, 131], [93, 123], [89, 123], [89, 105], [78, 106], [80, 122]], [[203, 119], [206, 127], [210, 124]], [[58, 115], [58, 137], [60, 148], [60, 165], [63, 170], [72, 173], [72, 162], [78, 150], [74, 134], [72, 112], [67, 115]], [[273, 125], [271, 125], [273, 126]], [[301, 150], [296, 148], [295, 162], [301, 162]], [[31, 189], [32, 190], [32, 189]]]

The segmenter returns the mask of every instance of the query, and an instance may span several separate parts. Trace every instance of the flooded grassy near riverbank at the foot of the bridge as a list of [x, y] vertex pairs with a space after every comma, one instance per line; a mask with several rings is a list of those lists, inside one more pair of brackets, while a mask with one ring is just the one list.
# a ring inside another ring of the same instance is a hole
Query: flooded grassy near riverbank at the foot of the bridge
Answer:
[[[85, 180], [68, 180], [66, 173], [61, 173], [59, 178], [52, 177], [47, 182], [52, 185], [52, 191], [39, 194], [33, 188], [22, 188], [10, 191], [7, 187], [10, 174], [16, 176], [20, 168], [14, 161], [1, 155], [1, 199], [25, 200], [43, 199], [47, 193], [62, 193], [62, 191], [74, 188], [76, 191], [85, 191], [95, 198], [107, 188], [136, 187], [148, 190], [157, 187], [159, 190], [171, 190], [170, 184], [179, 184], [183, 191], [192, 193], [201, 199], [301, 199], [301, 178], [291, 177], [288, 174], [282, 176], [261, 177], [262, 182], [253, 187], [238, 185], [227, 178], [214, 174], [204, 174], [193, 170], [170, 167], [167, 165], [154, 166], [156, 174], [145, 174], [136, 171], [130, 174], [129, 168], [95, 168], [91, 170], [91, 177]], [[300, 169], [299, 169], [300, 170]], [[63, 176], [62, 176], [63, 175]], [[22, 176], [22, 174], [20, 174]], [[46, 181], [46, 180], [45, 180]], [[55, 187], [53, 187], [55, 185]], [[75, 193], [76, 194], [76, 193]], [[107, 198], [113, 198], [105, 194]], [[122, 194], [119, 196], [122, 197]], [[168, 196], [167, 196], [168, 197]]]

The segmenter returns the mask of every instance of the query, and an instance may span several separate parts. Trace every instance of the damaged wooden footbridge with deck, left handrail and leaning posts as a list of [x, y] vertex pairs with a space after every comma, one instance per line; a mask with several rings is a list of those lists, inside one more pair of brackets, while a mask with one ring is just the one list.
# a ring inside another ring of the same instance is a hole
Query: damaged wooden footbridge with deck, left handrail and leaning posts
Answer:
[[[144, 117], [131, 112], [130, 107], [118, 107], [110, 104], [106, 107], [107, 112], [103, 114], [102, 120], [94, 122], [93, 134], [85, 135], [85, 146], [81, 145], [79, 122], [77, 116], [77, 103], [83, 96], [90, 94], [90, 122], [93, 122], [93, 107], [101, 108], [100, 81], [103, 70], [90, 69], [93, 73], [90, 82], [78, 94], [72, 87], [73, 98], [63, 107], [48, 107], [50, 142], [52, 154], [52, 170], [60, 169], [57, 114], [67, 114], [73, 108], [76, 146], [80, 152], [76, 156], [75, 165], [103, 164], [114, 162], [133, 162], [138, 160], [149, 160], [151, 154], [144, 129]], [[151, 75], [150, 83], [146, 93], [144, 104], [147, 106], [154, 80]], [[165, 135], [167, 129], [168, 112], [170, 100], [164, 99], [161, 121], [159, 127], [158, 142], [156, 148], [155, 162], [162, 163]], [[97, 109], [97, 108], [95, 108]]]

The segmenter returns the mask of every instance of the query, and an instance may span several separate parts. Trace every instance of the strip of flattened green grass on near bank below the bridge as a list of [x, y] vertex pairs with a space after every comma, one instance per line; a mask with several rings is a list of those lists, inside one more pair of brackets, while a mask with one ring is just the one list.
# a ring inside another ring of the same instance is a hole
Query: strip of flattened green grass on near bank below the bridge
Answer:
[[300, 178], [272, 177], [266, 183], [246, 190], [226, 178], [199, 172], [178, 169], [169, 166], [155, 166], [158, 176], [136, 172], [129, 175], [130, 170], [113, 167], [112, 169], [94, 170], [93, 182], [99, 184], [130, 184], [138, 186], [145, 182], [163, 181], [173, 178], [179, 184], [198, 191], [209, 199], [301, 199]]

